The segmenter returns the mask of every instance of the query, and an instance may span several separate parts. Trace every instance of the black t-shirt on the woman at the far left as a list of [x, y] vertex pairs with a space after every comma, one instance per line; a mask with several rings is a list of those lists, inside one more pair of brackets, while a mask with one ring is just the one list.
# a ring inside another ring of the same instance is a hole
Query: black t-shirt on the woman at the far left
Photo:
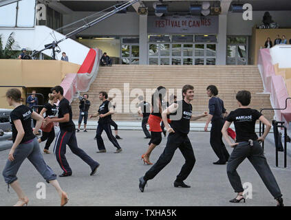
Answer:
[[14, 120], [21, 120], [21, 124], [23, 126], [23, 130], [25, 132], [21, 144], [24, 142], [28, 142], [29, 140], [34, 139], [35, 135], [32, 133], [32, 109], [30, 107], [27, 107], [26, 105], [20, 105], [19, 107], [16, 107], [13, 111], [10, 113], [10, 123], [12, 127], [12, 141], [15, 142], [15, 139], [17, 137], [17, 129], [14, 125]]

